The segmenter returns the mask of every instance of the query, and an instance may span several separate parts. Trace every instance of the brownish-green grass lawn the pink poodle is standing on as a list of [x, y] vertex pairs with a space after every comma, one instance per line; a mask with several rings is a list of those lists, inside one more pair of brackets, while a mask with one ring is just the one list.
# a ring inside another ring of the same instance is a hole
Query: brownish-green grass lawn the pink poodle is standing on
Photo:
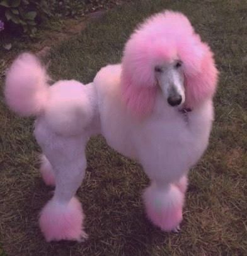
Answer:
[[120, 61], [135, 25], [164, 8], [188, 15], [221, 71], [210, 145], [190, 172], [181, 233], [163, 233], [147, 221], [140, 195], [148, 180], [141, 167], [97, 137], [88, 144], [78, 191], [89, 240], [46, 243], [37, 219], [52, 190], [38, 173], [33, 120], [10, 113], [1, 94], [0, 240], [9, 256], [247, 255], [246, 1], [135, 1], [53, 48], [50, 73], [90, 82], [101, 66]]

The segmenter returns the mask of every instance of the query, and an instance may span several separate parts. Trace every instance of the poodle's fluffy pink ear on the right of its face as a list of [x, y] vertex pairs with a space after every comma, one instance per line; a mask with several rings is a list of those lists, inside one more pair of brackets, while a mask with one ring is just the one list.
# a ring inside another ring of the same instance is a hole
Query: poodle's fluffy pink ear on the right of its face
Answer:
[[209, 46], [201, 44], [202, 54], [193, 63], [185, 61], [185, 105], [192, 108], [214, 96], [219, 73]]

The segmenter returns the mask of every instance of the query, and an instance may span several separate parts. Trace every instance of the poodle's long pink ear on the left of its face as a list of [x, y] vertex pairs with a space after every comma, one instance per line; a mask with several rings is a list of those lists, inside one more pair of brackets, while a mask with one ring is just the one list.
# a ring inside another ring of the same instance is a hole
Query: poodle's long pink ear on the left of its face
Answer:
[[121, 90], [123, 102], [137, 116], [151, 113], [156, 98], [156, 80], [149, 59], [149, 44], [132, 35], [122, 59]]

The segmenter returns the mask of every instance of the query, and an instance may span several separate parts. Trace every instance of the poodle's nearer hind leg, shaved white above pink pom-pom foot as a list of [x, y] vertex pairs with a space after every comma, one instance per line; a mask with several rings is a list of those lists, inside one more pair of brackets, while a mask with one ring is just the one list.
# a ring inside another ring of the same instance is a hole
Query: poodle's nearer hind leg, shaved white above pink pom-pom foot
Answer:
[[86, 134], [63, 137], [48, 126], [37, 123], [35, 137], [55, 174], [55, 193], [40, 213], [40, 228], [47, 241], [76, 240], [87, 237], [84, 214], [75, 197], [86, 169]]

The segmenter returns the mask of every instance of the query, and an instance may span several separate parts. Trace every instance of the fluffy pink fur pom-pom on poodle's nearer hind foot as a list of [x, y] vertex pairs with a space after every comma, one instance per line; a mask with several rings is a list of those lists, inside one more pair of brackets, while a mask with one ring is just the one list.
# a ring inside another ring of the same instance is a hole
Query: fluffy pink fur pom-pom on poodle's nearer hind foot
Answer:
[[76, 197], [68, 204], [59, 203], [52, 198], [40, 213], [40, 229], [47, 241], [82, 241], [87, 238], [82, 229], [83, 220], [83, 210]]

